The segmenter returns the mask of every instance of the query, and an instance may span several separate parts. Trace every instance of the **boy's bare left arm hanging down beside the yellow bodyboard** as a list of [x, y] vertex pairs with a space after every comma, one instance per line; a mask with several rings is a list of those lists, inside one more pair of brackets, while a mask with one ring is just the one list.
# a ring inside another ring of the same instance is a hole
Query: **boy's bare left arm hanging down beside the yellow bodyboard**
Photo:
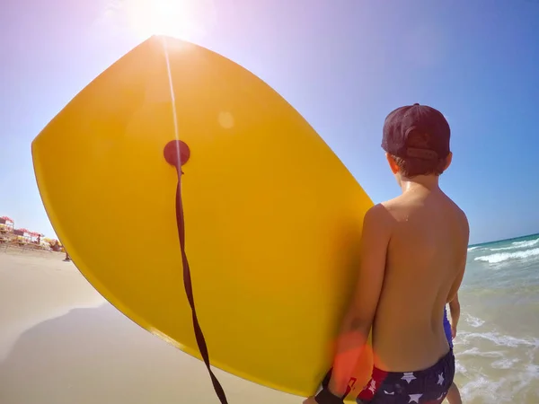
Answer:
[[393, 219], [384, 206], [371, 207], [363, 221], [356, 290], [340, 326], [329, 390], [342, 397], [355, 370], [358, 358], [367, 344], [384, 283], [385, 257], [391, 237]]

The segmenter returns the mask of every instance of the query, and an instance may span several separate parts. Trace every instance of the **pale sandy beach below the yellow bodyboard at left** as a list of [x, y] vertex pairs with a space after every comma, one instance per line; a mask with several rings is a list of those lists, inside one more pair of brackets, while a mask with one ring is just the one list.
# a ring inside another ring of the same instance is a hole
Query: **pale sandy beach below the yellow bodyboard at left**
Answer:
[[[202, 362], [104, 301], [63, 254], [0, 250], [0, 403], [218, 403]], [[229, 402], [300, 398], [216, 371]]]

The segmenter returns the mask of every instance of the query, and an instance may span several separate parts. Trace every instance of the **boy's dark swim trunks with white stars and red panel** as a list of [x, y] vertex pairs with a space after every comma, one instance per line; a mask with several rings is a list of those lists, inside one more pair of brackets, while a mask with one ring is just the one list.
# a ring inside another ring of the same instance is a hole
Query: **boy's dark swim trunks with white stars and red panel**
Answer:
[[370, 382], [358, 394], [358, 404], [440, 404], [455, 376], [453, 349], [428, 369], [385, 372], [373, 369]]

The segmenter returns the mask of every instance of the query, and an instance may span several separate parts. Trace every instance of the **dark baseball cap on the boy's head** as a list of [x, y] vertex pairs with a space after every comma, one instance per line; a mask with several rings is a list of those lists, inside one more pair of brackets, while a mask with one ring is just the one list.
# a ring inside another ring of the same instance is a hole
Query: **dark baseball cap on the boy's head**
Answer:
[[384, 122], [382, 148], [397, 157], [439, 160], [449, 154], [451, 129], [439, 110], [413, 104], [390, 112]]

